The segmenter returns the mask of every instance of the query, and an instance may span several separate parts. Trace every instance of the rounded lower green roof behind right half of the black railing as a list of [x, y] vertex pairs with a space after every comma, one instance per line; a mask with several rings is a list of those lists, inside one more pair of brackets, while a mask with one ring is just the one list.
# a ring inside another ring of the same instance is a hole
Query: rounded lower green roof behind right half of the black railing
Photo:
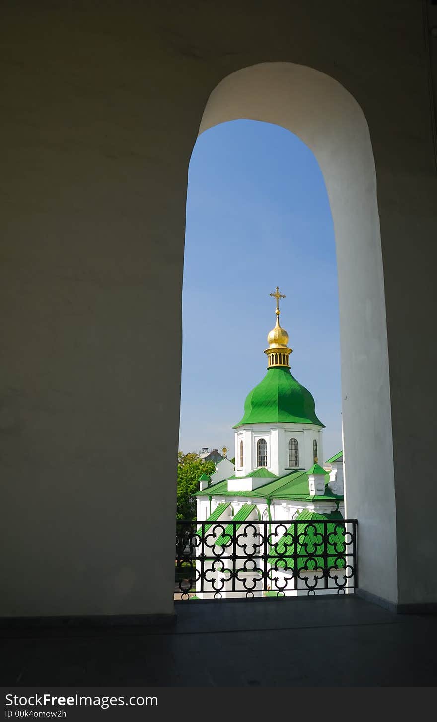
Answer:
[[[318, 524], [317, 521], [332, 521], [332, 524]], [[345, 526], [339, 511], [331, 514], [317, 514], [308, 510], [300, 512], [295, 521], [307, 522], [297, 526], [297, 538], [295, 539], [295, 524], [291, 524], [285, 534], [276, 544], [270, 547], [269, 564], [276, 569], [293, 569], [295, 567], [295, 552], [298, 553], [298, 569], [316, 570], [317, 567], [325, 568], [325, 541], [327, 534], [326, 552], [327, 567], [342, 569], [345, 567]], [[287, 558], [281, 554], [287, 555]], [[315, 556], [311, 558], [311, 554]], [[340, 555], [340, 556], [338, 556]]]

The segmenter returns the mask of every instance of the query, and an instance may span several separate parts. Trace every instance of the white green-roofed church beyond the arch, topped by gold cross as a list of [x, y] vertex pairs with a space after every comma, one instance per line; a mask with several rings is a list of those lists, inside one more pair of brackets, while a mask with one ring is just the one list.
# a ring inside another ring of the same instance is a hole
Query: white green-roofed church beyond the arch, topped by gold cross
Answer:
[[199, 599], [350, 587], [342, 452], [319, 465], [324, 425], [313, 396], [290, 373], [293, 349], [279, 323], [284, 296], [278, 288], [271, 295], [267, 374], [234, 427], [235, 468], [223, 460], [211, 477], [202, 475], [196, 493]]

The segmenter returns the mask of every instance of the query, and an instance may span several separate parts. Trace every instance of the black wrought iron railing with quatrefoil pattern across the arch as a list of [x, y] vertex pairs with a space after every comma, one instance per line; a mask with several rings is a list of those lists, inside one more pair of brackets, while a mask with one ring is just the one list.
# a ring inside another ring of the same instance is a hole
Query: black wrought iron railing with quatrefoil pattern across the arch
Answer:
[[344, 594], [356, 586], [356, 519], [177, 523], [176, 599]]

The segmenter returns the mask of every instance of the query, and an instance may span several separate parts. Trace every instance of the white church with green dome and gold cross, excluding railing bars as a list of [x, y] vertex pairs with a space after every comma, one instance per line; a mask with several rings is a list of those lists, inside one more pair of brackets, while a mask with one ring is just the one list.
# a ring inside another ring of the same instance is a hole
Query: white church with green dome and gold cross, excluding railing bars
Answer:
[[[235, 529], [235, 525], [225, 527], [230, 521], [254, 522], [253, 529], [261, 531], [266, 526], [256, 527], [257, 521], [269, 522], [270, 525], [275, 521], [308, 522], [312, 524], [311, 529], [317, 529], [322, 534], [329, 528], [331, 551], [334, 542], [341, 544], [344, 540], [344, 536], [339, 539], [342, 529], [341, 525], [338, 526], [344, 518], [342, 452], [326, 461], [326, 469], [319, 464], [319, 458], [323, 458], [324, 424], [316, 415], [310, 391], [290, 373], [290, 354], [293, 349], [288, 346], [287, 331], [280, 326], [280, 299], [285, 296], [280, 294], [278, 287], [270, 295], [276, 299], [276, 323], [267, 336], [268, 347], [264, 351], [267, 355], [267, 373], [261, 383], [248, 393], [243, 417], [233, 427], [234, 473], [220, 481], [217, 474], [212, 474], [212, 477], [203, 474], [199, 480], [200, 490], [196, 493], [197, 520], [220, 523], [219, 531], [224, 531], [212, 543], [213, 553], [221, 556], [226, 556], [226, 548], [222, 544], [226, 545], [227, 534], [230, 539], [232, 529]], [[332, 525], [321, 524], [324, 520], [332, 521]], [[285, 595], [295, 596], [308, 593], [308, 583], [302, 580], [298, 588], [294, 582], [293, 585], [282, 583], [282, 560], [278, 562], [275, 559], [277, 552], [280, 552], [280, 544], [277, 542], [282, 541], [282, 547], [287, 543], [287, 534], [292, 534], [292, 526], [290, 529], [284, 525], [277, 527], [281, 529], [282, 539], [269, 537], [269, 565], [274, 567], [275, 579], [279, 578], [279, 581], [269, 586], [283, 589]], [[300, 525], [299, 529], [302, 526], [305, 525]], [[210, 526], [208, 529], [211, 534]], [[338, 547], [335, 551], [338, 551]], [[220, 575], [223, 580], [223, 573], [217, 565], [213, 566], [218, 584]], [[337, 566], [341, 565], [337, 563]], [[282, 576], [287, 578], [286, 570]], [[254, 596], [262, 595], [262, 591], [259, 591], [261, 586], [257, 587]], [[336, 583], [330, 580], [329, 587], [332, 586], [336, 586]], [[316, 582], [314, 587], [317, 587]], [[332, 593], [332, 588], [316, 588], [315, 591]], [[199, 593], [196, 588], [196, 596], [205, 598], [212, 594]], [[221, 596], [226, 596], [226, 585]]]

